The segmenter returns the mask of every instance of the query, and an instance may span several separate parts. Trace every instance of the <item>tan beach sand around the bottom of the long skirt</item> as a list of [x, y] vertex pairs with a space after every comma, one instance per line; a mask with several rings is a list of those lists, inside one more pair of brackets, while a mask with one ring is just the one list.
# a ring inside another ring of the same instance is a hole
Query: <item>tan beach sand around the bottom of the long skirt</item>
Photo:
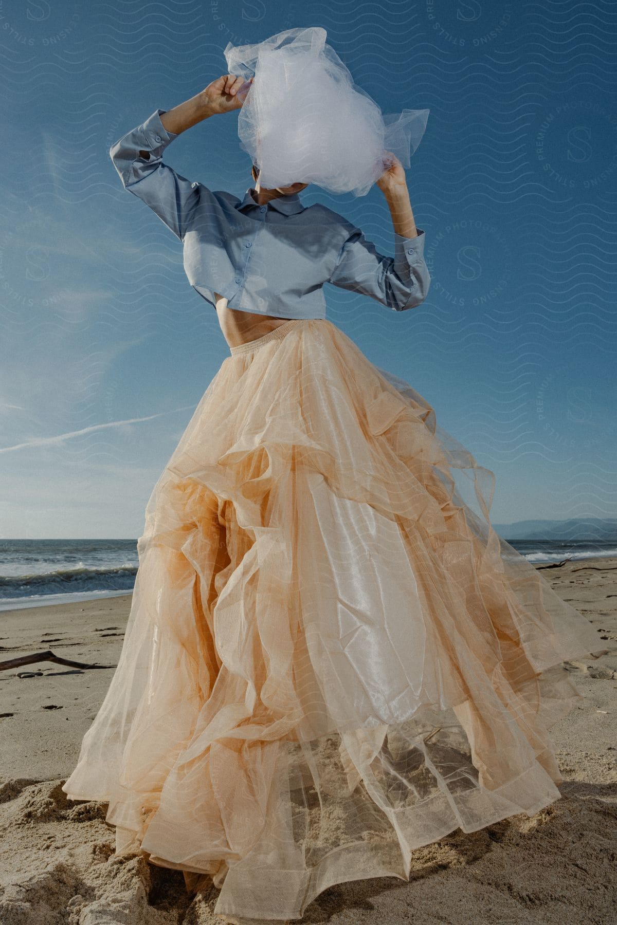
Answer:
[[[553, 727], [561, 798], [532, 818], [457, 830], [414, 853], [410, 882], [343, 883], [307, 923], [453, 925], [617, 921], [617, 559], [543, 570], [598, 630], [598, 659], [566, 662], [582, 699]], [[215, 925], [217, 891], [188, 895], [180, 871], [114, 858], [105, 803], [60, 789], [105, 696], [130, 594], [0, 613], [0, 660], [51, 649], [108, 667], [53, 662], [0, 671], [2, 925]], [[37, 672], [20, 677], [20, 673]], [[40, 673], [38, 673], [40, 672]]]

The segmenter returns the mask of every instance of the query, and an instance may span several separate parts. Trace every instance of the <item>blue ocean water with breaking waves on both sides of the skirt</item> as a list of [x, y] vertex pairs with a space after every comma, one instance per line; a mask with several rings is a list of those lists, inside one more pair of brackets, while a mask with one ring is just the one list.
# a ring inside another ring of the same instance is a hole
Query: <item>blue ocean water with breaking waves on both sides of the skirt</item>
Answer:
[[[615, 540], [509, 539], [530, 562], [617, 556]], [[0, 539], [0, 611], [129, 594], [137, 539]]]

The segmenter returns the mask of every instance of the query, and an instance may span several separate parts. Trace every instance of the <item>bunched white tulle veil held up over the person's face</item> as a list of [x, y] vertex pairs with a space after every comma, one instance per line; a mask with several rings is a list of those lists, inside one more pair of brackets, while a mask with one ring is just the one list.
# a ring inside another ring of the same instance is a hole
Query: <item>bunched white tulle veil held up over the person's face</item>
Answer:
[[429, 110], [383, 114], [326, 36], [309, 27], [228, 43], [228, 72], [254, 78], [238, 114], [241, 147], [267, 189], [303, 182], [364, 196], [388, 166], [387, 152], [410, 166]]

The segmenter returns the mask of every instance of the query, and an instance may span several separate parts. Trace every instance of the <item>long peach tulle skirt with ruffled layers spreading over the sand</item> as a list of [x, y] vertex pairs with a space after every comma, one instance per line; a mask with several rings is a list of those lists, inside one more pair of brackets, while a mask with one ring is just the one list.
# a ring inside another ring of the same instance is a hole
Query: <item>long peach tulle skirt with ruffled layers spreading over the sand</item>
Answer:
[[148, 501], [62, 789], [108, 801], [117, 854], [262, 919], [558, 799], [561, 663], [597, 634], [495, 533], [493, 487], [327, 319], [231, 348]]

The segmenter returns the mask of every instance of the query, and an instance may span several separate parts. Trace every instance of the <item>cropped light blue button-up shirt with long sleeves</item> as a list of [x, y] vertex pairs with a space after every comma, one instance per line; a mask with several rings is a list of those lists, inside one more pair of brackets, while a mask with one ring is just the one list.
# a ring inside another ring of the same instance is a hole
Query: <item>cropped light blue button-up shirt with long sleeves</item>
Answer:
[[395, 232], [392, 258], [377, 253], [360, 228], [327, 206], [304, 206], [298, 193], [259, 205], [252, 188], [240, 200], [180, 177], [161, 160], [178, 138], [163, 127], [165, 111], [156, 109], [109, 154], [124, 188], [183, 242], [189, 282], [208, 302], [216, 304], [217, 293], [244, 312], [325, 318], [327, 282], [395, 312], [426, 299], [423, 229], [416, 238]]

